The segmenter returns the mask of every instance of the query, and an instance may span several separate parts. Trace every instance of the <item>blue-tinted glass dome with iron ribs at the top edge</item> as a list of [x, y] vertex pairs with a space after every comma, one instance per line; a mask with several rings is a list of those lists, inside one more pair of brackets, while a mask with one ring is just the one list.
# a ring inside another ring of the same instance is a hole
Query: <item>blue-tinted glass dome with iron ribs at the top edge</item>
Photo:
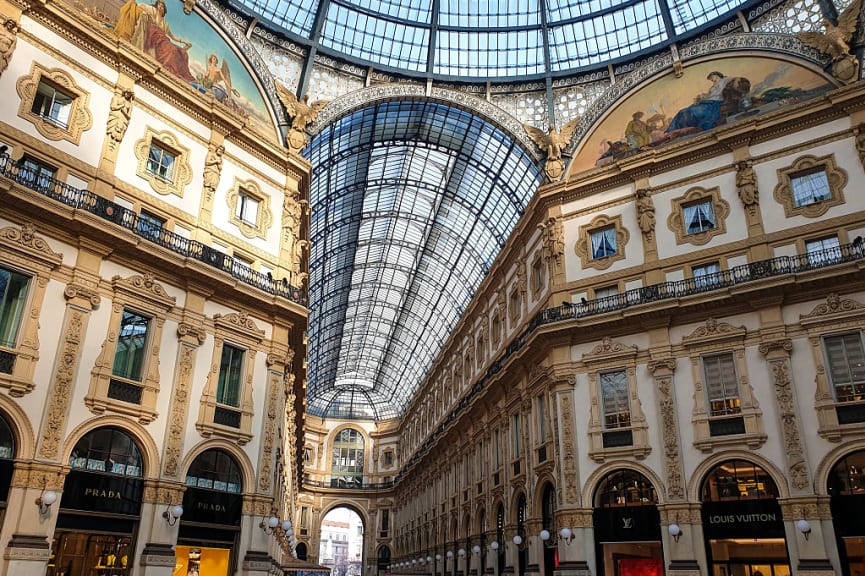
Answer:
[[452, 79], [556, 76], [681, 40], [753, 0], [229, 0], [301, 44]]

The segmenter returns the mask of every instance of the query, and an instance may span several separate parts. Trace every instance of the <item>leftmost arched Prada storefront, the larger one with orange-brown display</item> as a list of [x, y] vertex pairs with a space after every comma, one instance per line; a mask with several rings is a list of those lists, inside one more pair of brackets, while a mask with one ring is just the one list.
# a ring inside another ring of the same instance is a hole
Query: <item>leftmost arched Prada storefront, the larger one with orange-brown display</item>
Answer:
[[126, 576], [144, 492], [141, 452], [119, 428], [98, 428], [69, 458], [47, 576]]

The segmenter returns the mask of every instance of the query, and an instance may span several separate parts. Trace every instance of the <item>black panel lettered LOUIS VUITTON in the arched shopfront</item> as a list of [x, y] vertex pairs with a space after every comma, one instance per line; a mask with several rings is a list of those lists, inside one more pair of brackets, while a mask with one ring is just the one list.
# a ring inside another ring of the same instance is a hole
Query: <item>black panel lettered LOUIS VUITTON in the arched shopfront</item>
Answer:
[[706, 538], [783, 538], [781, 506], [774, 498], [703, 502]]

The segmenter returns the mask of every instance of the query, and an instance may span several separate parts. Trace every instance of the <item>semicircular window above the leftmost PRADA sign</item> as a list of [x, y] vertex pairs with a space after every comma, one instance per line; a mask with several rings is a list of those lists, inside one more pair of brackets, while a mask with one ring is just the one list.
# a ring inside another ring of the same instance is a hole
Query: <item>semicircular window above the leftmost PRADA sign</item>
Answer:
[[85, 434], [69, 456], [72, 468], [121, 476], [143, 476], [142, 462], [135, 440], [123, 430], [111, 427]]

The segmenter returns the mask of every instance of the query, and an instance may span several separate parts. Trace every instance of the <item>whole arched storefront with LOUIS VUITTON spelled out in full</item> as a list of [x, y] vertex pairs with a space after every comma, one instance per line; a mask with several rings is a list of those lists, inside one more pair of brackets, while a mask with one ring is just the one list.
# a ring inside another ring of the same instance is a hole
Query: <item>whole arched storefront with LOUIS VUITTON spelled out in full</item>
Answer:
[[778, 488], [760, 466], [728, 460], [703, 481], [703, 534], [712, 576], [790, 576]]

